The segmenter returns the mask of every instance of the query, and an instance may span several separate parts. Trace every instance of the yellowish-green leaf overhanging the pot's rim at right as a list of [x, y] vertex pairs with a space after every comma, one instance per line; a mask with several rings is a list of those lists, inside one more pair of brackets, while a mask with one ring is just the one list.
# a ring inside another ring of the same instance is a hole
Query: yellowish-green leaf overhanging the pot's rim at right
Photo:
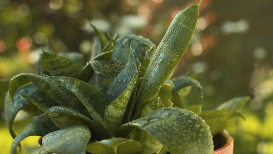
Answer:
[[235, 118], [244, 119], [241, 113], [232, 110], [204, 111], [201, 112], [199, 116], [205, 120], [207, 125], [209, 125], [213, 134], [217, 134], [223, 131], [223, 129], [228, 128], [230, 126], [229, 121], [232, 119]]

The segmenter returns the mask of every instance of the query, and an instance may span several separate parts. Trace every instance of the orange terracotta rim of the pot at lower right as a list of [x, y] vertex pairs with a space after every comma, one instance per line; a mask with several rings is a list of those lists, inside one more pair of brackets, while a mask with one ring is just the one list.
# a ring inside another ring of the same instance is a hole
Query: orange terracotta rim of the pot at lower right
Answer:
[[220, 154], [220, 153], [233, 153], [234, 147], [234, 139], [230, 136], [226, 131], [220, 132], [222, 136], [226, 139], [226, 144], [216, 150], [213, 151], [213, 154]]

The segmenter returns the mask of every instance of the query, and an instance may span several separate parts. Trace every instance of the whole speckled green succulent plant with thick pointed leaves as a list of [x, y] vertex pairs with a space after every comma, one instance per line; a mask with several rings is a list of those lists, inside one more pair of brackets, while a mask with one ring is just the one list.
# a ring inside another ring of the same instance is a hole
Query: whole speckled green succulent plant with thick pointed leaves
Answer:
[[[199, 4], [175, 16], [155, 51], [148, 38], [131, 34], [116, 40], [92, 25], [96, 48], [85, 66], [76, 53], [43, 51], [37, 74], [22, 73], [9, 83], [10, 153], [29, 136], [43, 137], [33, 153], [212, 153], [213, 134], [242, 117], [237, 110], [248, 98], [202, 112], [182, 101], [181, 89], [201, 89], [197, 80], [168, 80], [191, 41]], [[19, 110], [34, 121], [16, 135], [12, 123]]]

